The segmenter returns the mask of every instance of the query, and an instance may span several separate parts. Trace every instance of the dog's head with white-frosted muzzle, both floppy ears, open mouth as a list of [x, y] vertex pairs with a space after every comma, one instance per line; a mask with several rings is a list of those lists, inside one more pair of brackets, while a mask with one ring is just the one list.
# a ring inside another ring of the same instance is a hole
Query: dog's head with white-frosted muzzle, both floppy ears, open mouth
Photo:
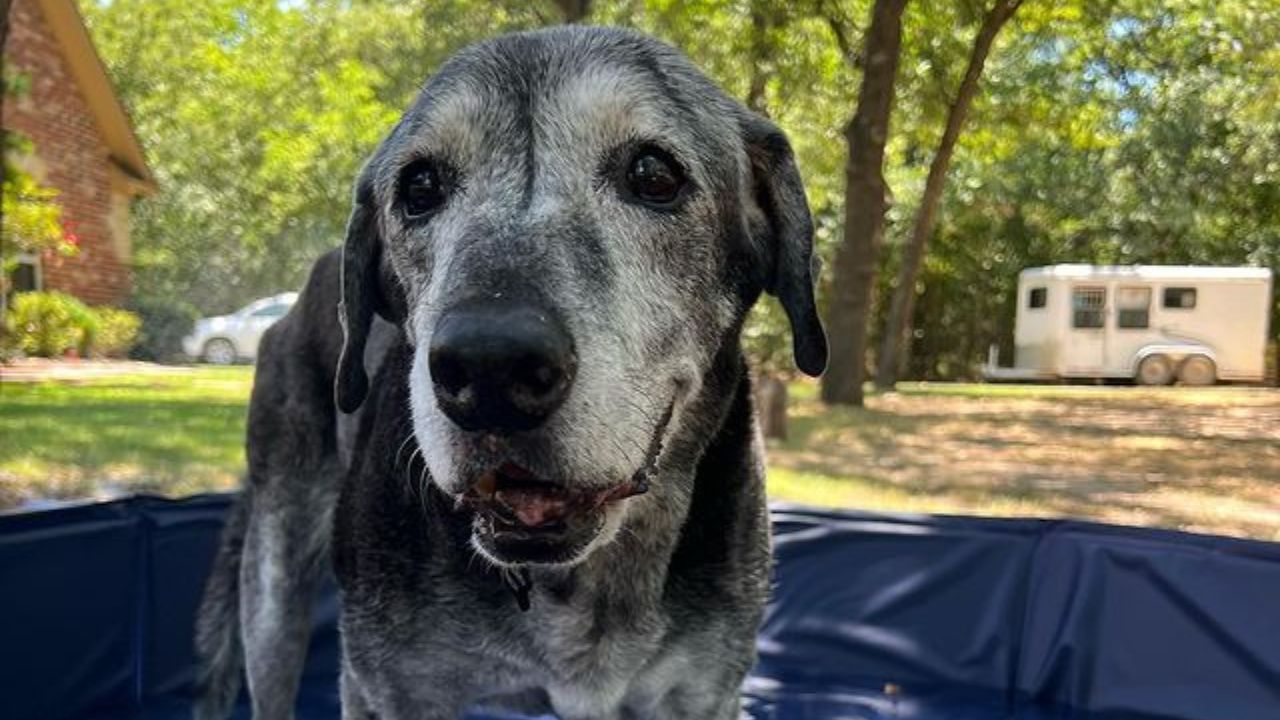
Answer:
[[559, 28], [465, 50], [365, 167], [343, 247], [338, 404], [375, 313], [413, 345], [413, 432], [503, 564], [608, 542], [762, 291], [827, 357], [791, 149], [644, 36]]

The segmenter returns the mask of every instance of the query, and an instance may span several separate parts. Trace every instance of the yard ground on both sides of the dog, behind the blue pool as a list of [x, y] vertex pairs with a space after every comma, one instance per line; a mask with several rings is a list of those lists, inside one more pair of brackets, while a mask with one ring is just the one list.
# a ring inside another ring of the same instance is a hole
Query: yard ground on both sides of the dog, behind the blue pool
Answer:
[[[0, 507], [236, 487], [251, 374], [0, 384]], [[774, 500], [1280, 541], [1280, 391], [914, 383], [828, 409], [797, 383], [791, 410]]]

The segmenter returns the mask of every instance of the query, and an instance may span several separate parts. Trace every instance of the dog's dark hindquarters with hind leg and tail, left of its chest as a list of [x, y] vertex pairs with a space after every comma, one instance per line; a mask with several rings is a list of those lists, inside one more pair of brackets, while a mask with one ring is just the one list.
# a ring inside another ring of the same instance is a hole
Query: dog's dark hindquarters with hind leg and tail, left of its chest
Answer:
[[[310, 594], [328, 571], [332, 514], [360, 421], [337, 413], [332, 391], [342, 348], [340, 261], [330, 252], [316, 263], [298, 302], [259, 348], [248, 475], [197, 614], [196, 720], [228, 717], [246, 670], [255, 717], [293, 716]], [[374, 373], [398, 332], [378, 320], [370, 333]]]

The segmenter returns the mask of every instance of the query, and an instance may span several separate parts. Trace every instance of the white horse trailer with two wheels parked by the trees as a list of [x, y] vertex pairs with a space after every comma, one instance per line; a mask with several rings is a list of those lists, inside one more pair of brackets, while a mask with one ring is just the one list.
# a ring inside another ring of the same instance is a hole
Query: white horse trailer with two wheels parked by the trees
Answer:
[[1051, 265], [1018, 277], [1014, 366], [991, 380], [1133, 378], [1258, 382], [1266, 374], [1271, 270]]

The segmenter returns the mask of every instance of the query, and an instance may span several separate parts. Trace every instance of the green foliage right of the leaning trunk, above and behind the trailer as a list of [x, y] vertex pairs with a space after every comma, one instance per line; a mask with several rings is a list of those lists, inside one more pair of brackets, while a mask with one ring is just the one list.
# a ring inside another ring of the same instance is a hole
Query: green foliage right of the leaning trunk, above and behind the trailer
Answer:
[[918, 284], [914, 377], [973, 377], [991, 342], [1010, 356], [1021, 268], [1280, 268], [1280, 6], [1021, 13], [952, 167]]

